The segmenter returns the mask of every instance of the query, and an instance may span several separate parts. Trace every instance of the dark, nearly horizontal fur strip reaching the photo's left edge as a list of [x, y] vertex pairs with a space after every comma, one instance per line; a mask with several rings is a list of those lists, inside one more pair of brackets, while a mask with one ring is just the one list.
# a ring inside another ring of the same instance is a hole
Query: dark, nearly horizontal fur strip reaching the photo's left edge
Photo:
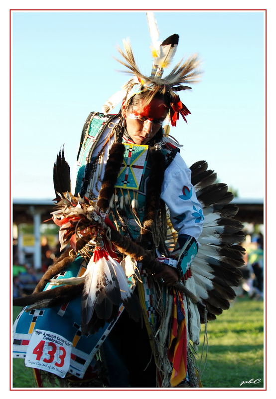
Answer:
[[34, 293], [22, 298], [13, 299], [13, 306], [28, 306], [39, 303], [40, 301], [49, 300], [48, 304], [43, 304], [43, 308], [52, 308], [53, 306], [62, 305], [72, 301], [82, 293], [84, 283], [77, 285], [62, 285], [60, 287]]

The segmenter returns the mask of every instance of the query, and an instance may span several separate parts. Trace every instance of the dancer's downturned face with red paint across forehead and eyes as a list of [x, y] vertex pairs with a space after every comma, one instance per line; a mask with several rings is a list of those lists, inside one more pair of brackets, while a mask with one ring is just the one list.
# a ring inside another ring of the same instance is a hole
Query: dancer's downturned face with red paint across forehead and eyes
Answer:
[[125, 109], [122, 104], [122, 115], [126, 120], [126, 129], [135, 144], [146, 144], [158, 132], [168, 113], [162, 99], [153, 98], [147, 106], [138, 103]]

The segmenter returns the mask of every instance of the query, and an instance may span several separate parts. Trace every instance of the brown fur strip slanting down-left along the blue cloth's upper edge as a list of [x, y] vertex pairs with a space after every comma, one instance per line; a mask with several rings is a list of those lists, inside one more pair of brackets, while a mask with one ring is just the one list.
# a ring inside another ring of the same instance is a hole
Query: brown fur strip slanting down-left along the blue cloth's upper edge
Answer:
[[[82, 249], [85, 244], [90, 241], [91, 237], [86, 236], [82, 237], [77, 241], [77, 251]], [[33, 293], [36, 294], [40, 291], [43, 291], [45, 285], [47, 282], [56, 276], [58, 273], [61, 273], [71, 262], [73, 262], [76, 258], [76, 252], [74, 252], [74, 255], [71, 256], [70, 252], [72, 251], [72, 248], [66, 249], [63, 254], [60, 255], [60, 257], [46, 270], [44, 275], [42, 276], [41, 280], [35, 287]]]

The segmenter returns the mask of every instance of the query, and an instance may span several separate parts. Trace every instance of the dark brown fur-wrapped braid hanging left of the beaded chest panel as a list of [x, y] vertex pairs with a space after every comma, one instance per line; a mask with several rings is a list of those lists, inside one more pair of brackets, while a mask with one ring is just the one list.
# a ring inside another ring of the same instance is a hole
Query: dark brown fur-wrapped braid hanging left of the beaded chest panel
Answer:
[[123, 164], [124, 153], [124, 144], [113, 143], [109, 151], [109, 158], [97, 201], [97, 205], [100, 209], [106, 210], [109, 208], [110, 200], [114, 194], [114, 186], [117, 182], [117, 178]]

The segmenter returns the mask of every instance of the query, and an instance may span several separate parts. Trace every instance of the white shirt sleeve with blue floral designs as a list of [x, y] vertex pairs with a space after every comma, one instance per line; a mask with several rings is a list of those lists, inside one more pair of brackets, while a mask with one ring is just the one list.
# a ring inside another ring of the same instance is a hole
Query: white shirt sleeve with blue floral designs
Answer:
[[191, 170], [178, 153], [165, 170], [161, 199], [170, 211], [170, 220], [178, 234], [188, 234], [196, 240], [202, 232], [202, 206], [191, 184]]

